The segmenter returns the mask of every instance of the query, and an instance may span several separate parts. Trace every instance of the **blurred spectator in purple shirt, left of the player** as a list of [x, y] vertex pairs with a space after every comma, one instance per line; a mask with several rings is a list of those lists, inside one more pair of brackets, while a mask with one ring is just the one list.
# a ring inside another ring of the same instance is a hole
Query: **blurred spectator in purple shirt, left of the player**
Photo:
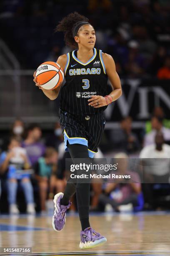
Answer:
[[26, 149], [28, 158], [33, 166], [39, 157], [45, 153], [45, 145], [40, 141], [42, 131], [39, 125], [32, 124], [28, 128], [27, 137], [23, 141], [22, 146]]

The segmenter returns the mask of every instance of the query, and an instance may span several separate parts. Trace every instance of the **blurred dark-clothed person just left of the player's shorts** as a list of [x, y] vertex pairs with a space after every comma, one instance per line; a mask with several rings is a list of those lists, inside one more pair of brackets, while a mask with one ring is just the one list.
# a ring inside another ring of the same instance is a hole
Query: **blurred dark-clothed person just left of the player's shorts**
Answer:
[[60, 123], [56, 122], [54, 127], [54, 132], [50, 133], [47, 136], [46, 146], [53, 147], [58, 151], [58, 146], [63, 142], [62, 129], [60, 127]]

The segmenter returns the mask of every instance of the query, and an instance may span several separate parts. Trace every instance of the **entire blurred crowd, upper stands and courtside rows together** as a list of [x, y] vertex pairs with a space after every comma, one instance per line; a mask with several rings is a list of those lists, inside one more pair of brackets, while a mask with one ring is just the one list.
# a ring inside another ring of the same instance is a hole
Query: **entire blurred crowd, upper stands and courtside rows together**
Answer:
[[[54, 29], [74, 11], [89, 18], [95, 47], [112, 55], [120, 78], [170, 79], [168, 0], [2, 0], [0, 38], [22, 69], [36, 69], [72, 50]], [[135, 182], [93, 181], [92, 211], [170, 209], [170, 120], [157, 107], [140, 131], [132, 122], [126, 116], [119, 128], [105, 131], [95, 158], [122, 159], [117, 174], [131, 175]], [[54, 195], [65, 189], [66, 158], [70, 154], [64, 150], [59, 123], [44, 134], [37, 124], [15, 120], [8, 134], [0, 134], [0, 212], [43, 214], [51, 209]], [[129, 164], [132, 158], [137, 172]], [[71, 201], [70, 211], [75, 212], [75, 196]]]

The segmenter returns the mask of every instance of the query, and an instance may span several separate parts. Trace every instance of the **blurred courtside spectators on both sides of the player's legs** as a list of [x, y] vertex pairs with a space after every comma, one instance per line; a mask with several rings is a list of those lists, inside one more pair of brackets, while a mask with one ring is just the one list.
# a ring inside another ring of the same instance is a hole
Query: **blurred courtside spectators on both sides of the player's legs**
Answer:
[[[170, 120], [165, 118], [163, 109], [155, 108], [140, 136], [132, 129], [132, 118], [126, 117], [119, 129], [110, 130], [105, 137], [107, 145], [112, 145], [109, 156], [122, 159], [116, 173], [131, 175], [133, 179], [125, 182], [120, 178], [115, 183], [93, 180], [90, 210], [169, 209]], [[1, 139], [0, 211], [45, 213], [52, 207], [55, 193], [63, 192], [66, 185], [65, 159], [70, 154], [64, 150], [60, 124], [55, 123], [53, 131], [44, 136], [39, 125], [25, 127], [17, 119], [10, 133]], [[95, 159], [107, 157], [107, 153], [101, 144]], [[137, 161], [135, 172], [130, 159]], [[70, 211], [75, 212], [75, 196], [71, 200]]]

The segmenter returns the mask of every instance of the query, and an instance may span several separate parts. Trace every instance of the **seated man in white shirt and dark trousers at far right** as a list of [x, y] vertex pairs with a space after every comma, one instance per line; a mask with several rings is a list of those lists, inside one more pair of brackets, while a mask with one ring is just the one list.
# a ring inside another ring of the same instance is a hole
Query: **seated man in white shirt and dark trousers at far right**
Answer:
[[170, 177], [170, 146], [164, 143], [163, 133], [156, 133], [155, 143], [145, 146], [139, 157], [143, 159], [141, 165], [145, 202], [148, 209], [153, 209], [154, 183], [169, 183]]

